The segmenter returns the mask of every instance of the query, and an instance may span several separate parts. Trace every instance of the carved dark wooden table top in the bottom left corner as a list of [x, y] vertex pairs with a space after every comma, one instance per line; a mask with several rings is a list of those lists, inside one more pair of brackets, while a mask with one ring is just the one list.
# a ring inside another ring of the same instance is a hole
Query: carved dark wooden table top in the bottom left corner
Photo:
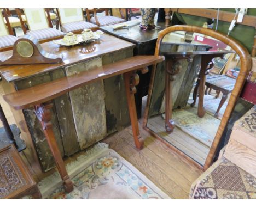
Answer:
[[0, 150], [0, 176], [0, 199], [30, 195], [33, 199], [42, 199], [37, 183], [13, 144]]

